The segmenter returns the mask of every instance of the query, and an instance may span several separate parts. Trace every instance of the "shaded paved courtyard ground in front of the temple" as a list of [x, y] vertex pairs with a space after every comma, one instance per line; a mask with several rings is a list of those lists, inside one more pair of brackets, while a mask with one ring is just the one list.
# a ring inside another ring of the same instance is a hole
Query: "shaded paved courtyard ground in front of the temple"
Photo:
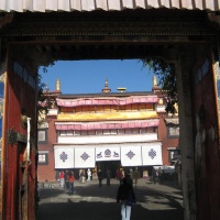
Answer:
[[[120, 220], [120, 204], [116, 202], [119, 187], [117, 179], [111, 186], [98, 187], [98, 180], [79, 184], [75, 182], [75, 193], [53, 183], [54, 188], [44, 184], [37, 220]], [[153, 184], [140, 179], [134, 187], [136, 205], [132, 206], [131, 220], [184, 220], [183, 196], [178, 188]]]

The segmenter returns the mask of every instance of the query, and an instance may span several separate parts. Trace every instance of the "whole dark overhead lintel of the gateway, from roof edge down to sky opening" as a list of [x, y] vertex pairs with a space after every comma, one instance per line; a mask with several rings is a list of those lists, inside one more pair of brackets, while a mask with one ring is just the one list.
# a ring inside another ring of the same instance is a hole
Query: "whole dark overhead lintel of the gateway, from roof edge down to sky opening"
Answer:
[[91, 54], [97, 59], [151, 56], [174, 62], [183, 43], [211, 42], [216, 55], [219, 35], [219, 24], [206, 11], [185, 10], [15, 13], [0, 29], [2, 54], [9, 43], [16, 43], [13, 51], [29, 52], [36, 67]]

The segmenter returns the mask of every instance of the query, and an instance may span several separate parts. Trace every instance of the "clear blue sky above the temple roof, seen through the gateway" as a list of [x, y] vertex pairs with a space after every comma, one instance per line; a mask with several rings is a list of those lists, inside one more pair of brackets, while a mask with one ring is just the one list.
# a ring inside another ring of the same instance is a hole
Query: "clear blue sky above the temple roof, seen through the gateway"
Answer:
[[50, 90], [55, 90], [55, 81], [59, 79], [62, 94], [101, 92], [106, 78], [111, 92], [117, 92], [119, 87], [127, 91], [152, 90], [153, 74], [142, 68], [139, 59], [56, 62], [47, 67], [47, 73], [43, 68], [38, 73]]

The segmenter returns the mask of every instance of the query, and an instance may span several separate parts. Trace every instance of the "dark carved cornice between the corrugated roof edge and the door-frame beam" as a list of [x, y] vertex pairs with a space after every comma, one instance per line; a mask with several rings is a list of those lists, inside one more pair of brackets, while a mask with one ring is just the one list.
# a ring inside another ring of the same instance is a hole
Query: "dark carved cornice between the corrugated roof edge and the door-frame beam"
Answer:
[[[219, 35], [219, 25], [204, 12], [105, 13], [98, 14], [19, 14], [13, 25], [2, 32], [6, 41], [97, 41], [131, 40], [173, 41], [187, 36]], [[29, 21], [29, 22], [26, 22]]]

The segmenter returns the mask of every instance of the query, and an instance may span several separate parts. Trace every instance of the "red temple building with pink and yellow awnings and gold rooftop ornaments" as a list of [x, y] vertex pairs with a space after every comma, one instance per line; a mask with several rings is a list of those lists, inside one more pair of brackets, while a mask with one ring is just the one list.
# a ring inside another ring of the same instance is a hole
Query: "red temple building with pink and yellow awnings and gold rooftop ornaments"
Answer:
[[142, 176], [156, 165], [170, 165], [178, 146], [178, 111], [167, 114], [166, 94], [153, 77], [152, 91], [111, 92], [108, 79], [99, 94], [62, 95], [38, 125], [38, 180], [55, 180], [62, 169], [139, 167]]

